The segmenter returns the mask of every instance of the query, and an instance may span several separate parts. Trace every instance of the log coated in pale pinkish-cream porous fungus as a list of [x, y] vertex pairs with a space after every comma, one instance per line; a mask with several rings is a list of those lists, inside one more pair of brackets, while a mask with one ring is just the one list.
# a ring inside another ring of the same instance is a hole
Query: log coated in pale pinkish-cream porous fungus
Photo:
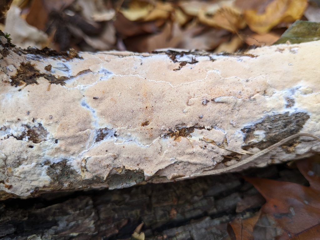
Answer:
[[[320, 42], [220, 55], [59, 55], [2, 43], [2, 198], [168, 181], [298, 132], [320, 136]], [[252, 164], [318, 150], [301, 137]]]

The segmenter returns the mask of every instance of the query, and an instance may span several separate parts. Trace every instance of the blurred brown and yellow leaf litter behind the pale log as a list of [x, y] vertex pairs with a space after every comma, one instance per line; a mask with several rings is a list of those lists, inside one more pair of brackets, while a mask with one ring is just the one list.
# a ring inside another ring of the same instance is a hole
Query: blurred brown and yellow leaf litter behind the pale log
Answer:
[[14, 0], [0, 30], [20, 47], [236, 52], [270, 45], [316, 0]]

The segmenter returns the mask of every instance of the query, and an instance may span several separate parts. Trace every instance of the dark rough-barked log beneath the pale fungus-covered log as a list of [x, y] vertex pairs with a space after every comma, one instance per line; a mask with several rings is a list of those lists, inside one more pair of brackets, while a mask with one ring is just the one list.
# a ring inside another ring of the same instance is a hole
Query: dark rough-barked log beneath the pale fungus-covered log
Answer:
[[[284, 165], [245, 175], [306, 183]], [[48, 193], [0, 202], [1, 239], [228, 239], [227, 223], [251, 216], [264, 199], [238, 174], [131, 188]]]

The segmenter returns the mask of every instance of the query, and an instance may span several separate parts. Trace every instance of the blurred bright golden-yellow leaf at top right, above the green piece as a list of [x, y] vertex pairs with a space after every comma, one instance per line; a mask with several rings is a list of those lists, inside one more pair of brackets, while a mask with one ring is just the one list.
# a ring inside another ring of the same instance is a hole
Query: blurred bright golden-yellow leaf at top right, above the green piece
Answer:
[[244, 10], [244, 20], [252, 31], [264, 34], [281, 22], [300, 19], [307, 5], [307, 0], [273, 0], [264, 12], [256, 8]]

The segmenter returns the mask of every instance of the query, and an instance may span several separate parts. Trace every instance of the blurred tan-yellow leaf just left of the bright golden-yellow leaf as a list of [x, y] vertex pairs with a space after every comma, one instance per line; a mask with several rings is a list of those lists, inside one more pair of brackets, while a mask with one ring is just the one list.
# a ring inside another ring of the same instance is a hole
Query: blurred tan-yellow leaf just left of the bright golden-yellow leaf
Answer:
[[215, 28], [236, 33], [246, 26], [241, 12], [233, 5], [234, 0], [210, 4], [198, 12], [199, 21]]

